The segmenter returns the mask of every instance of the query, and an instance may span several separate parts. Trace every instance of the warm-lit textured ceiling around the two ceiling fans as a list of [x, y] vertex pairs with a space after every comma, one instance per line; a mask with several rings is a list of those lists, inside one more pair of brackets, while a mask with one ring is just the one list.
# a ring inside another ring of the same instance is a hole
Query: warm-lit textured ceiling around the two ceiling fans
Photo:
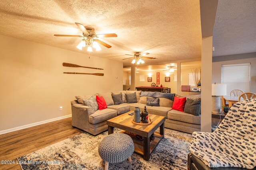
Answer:
[[[150, 53], [145, 64], [201, 57], [199, 0], [1, 0], [0, 34], [86, 54], [76, 49], [81, 35], [75, 22], [94, 27], [112, 45], [91, 56], [130, 65], [125, 54]], [[72, 57], [72, 56], [70, 56]]]

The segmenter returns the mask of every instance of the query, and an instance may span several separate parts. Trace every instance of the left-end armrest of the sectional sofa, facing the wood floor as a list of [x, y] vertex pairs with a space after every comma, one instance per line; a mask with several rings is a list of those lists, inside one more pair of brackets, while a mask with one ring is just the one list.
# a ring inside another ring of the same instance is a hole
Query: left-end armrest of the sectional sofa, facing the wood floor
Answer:
[[94, 113], [92, 107], [82, 104], [71, 105], [72, 110], [72, 126], [89, 132], [89, 115]]

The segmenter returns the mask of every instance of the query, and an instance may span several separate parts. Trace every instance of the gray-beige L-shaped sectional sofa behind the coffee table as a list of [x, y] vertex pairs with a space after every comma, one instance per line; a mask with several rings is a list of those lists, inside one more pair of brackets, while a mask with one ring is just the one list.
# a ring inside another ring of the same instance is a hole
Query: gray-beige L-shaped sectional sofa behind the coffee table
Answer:
[[[82, 104], [83, 98], [88, 96], [76, 96], [77, 100], [71, 101], [72, 108], [72, 126], [82, 129], [92, 135], [97, 135], [108, 129], [107, 120], [116, 117], [120, 114], [126, 113], [130, 110], [134, 110], [135, 107], [139, 107], [142, 111], [146, 106], [146, 96], [140, 97], [141, 91], [121, 91], [122, 93], [134, 93], [136, 92], [137, 103], [122, 103], [114, 105], [111, 93], [95, 94], [103, 96], [106, 100], [107, 107], [103, 110], [93, 111], [91, 107]], [[117, 92], [120, 94], [120, 92]], [[115, 93], [115, 94], [117, 94]], [[112, 101], [111, 101], [112, 100]], [[160, 106], [146, 106], [147, 111], [150, 114], [160, 115], [166, 117], [164, 127], [174, 129], [186, 133], [193, 133], [194, 131], [200, 131], [201, 117], [195, 116], [182, 111], [172, 109], [173, 101], [160, 98]]]

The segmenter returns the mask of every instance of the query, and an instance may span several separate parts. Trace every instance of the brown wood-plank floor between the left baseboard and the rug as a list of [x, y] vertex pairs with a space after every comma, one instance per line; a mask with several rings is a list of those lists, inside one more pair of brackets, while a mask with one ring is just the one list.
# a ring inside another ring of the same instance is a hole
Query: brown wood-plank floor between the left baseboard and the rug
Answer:
[[0, 135], [0, 160], [14, 160], [15, 164], [0, 164], [0, 170], [21, 170], [18, 157], [42, 149], [81, 130], [72, 127], [71, 117]]

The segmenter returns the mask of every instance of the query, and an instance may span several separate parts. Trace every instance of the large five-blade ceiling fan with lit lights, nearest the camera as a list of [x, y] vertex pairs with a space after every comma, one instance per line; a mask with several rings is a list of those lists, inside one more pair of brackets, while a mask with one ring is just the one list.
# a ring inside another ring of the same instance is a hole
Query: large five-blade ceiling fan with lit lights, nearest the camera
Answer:
[[109, 33], [109, 34], [96, 34], [94, 32], [94, 28], [92, 27], [85, 27], [84, 25], [80, 23], [76, 23], [76, 25], [79, 27], [79, 29], [82, 31], [82, 35], [59, 35], [54, 34], [54, 36], [57, 37], [82, 37], [82, 41], [76, 46], [76, 48], [82, 50], [82, 47], [88, 46], [87, 51], [92, 52], [92, 47], [96, 49], [96, 51], [101, 50], [100, 46], [101, 44], [107, 48], [111, 48], [111, 45], [108, 45], [107, 43], [104, 43], [103, 41], [100, 41], [97, 38], [102, 37], [117, 37], [115, 33]]

